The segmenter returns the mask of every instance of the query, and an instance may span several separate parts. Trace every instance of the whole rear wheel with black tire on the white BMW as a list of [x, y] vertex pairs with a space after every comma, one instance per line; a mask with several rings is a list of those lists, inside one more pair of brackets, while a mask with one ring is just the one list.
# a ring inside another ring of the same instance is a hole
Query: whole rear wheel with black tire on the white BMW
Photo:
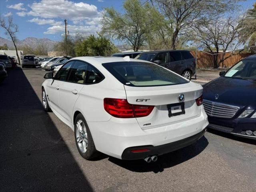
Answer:
[[98, 156], [99, 152], [95, 148], [92, 134], [82, 114], [76, 116], [74, 121], [74, 134], [76, 147], [84, 159], [90, 160]]

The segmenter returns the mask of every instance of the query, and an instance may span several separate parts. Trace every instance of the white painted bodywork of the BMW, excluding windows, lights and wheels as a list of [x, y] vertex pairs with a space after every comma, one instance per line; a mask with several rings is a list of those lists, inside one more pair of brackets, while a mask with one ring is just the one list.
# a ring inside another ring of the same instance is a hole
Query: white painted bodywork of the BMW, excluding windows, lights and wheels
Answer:
[[[124, 62], [124, 58], [78, 57], [69, 61], [72, 60], [91, 64], [104, 75], [104, 80], [96, 84], [77, 84], [48, 79], [42, 86], [50, 99], [48, 103], [54, 114], [72, 130], [75, 112], [84, 116], [96, 149], [102, 153], [121, 159], [126, 148], [175, 142], [202, 132], [208, 125], [203, 106], [197, 106], [195, 102], [202, 95], [202, 86], [199, 84], [188, 82], [171, 86], [126, 86], [102, 66], [102, 63]], [[56, 86], [59, 86], [59, 90]], [[72, 90], [77, 90], [77, 94], [73, 94]], [[178, 103], [180, 94], [184, 94], [186, 113], [169, 118], [167, 104]], [[127, 99], [130, 104], [155, 107], [146, 117], [116, 118], [104, 110], [104, 98]], [[138, 98], [150, 100], [138, 103]], [[148, 123], [151, 124], [143, 126]]]

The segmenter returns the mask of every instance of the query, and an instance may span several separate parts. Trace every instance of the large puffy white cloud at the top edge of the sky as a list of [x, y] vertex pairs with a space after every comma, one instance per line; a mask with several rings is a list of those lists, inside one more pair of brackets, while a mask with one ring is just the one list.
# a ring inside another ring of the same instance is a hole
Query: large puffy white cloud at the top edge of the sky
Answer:
[[84, 2], [72, 2], [68, 0], [42, 0], [29, 6], [32, 10], [28, 15], [42, 18], [66, 18], [69, 20], [84, 20], [97, 17], [100, 13], [97, 7]]

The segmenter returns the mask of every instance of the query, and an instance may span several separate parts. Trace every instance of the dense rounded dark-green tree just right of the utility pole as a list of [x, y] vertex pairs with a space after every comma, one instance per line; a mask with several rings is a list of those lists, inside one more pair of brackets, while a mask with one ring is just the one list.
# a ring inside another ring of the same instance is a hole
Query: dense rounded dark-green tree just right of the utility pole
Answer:
[[90, 35], [82, 41], [77, 41], [74, 50], [76, 56], [108, 56], [118, 52], [110, 40], [94, 35]]

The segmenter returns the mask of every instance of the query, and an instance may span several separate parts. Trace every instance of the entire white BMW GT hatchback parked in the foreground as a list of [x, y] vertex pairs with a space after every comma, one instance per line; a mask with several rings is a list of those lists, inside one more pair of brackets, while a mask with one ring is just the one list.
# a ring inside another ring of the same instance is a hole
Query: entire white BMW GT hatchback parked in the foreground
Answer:
[[44, 75], [42, 103], [74, 130], [85, 159], [157, 156], [196, 142], [208, 125], [201, 85], [151, 62], [76, 57]]

